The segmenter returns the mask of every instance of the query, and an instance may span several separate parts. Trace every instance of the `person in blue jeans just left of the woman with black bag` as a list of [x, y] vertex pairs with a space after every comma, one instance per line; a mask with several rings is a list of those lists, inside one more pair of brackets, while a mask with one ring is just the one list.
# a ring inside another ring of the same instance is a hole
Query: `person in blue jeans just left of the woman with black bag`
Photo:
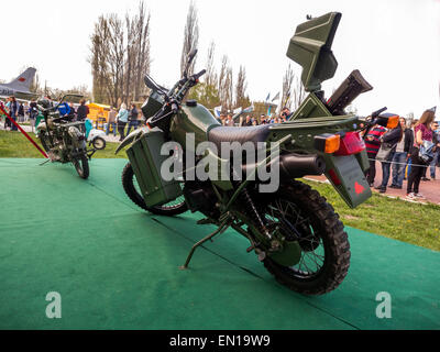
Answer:
[[403, 139], [397, 143], [396, 151], [394, 153], [393, 164], [393, 178], [389, 188], [402, 189], [405, 177], [406, 162], [411, 155], [411, 147], [414, 143], [414, 134], [411, 129], [406, 128], [406, 120], [399, 119], [400, 128], [404, 131]]

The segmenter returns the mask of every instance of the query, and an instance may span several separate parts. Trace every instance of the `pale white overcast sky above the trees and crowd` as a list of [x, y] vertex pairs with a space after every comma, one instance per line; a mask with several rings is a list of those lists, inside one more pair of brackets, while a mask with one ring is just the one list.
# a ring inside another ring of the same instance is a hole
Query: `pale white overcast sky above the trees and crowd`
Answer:
[[[180, 53], [189, 0], [145, 0], [151, 13], [151, 75], [172, 86], [179, 78]], [[97, 18], [134, 13], [139, 0], [14, 0], [2, 3], [3, 55], [0, 79], [11, 80], [33, 66], [47, 86], [91, 90], [90, 35]], [[387, 107], [418, 118], [438, 106], [440, 114], [440, 0], [195, 0], [199, 20], [196, 70], [205, 68], [216, 43], [216, 66], [228, 55], [237, 77], [244, 65], [252, 100], [274, 97], [292, 63], [290, 37], [306, 15], [341, 12], [332, 51], [338, 61], [326, 97], [353, 70], [374, 87], [354, 100], [358, 113]], [[13, 42], [11, 41], [13, 40]]]

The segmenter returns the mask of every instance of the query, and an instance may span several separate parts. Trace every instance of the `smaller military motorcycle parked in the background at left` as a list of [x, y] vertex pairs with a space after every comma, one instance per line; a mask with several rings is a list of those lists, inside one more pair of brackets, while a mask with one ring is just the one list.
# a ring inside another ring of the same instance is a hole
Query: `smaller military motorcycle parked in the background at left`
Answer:
[[84, 122], [72, 122], [72, 116], [61, 116], [58, 107], [64, 101], [76, 102], [80, 95], [66, 95], [55, 106], [47, 99], [37, 101], [43, 122], [35, 128], [38, 139], [51, 162], [72, 163], [79, 177], [89, 177], [90, 151], [87, 151], [86, 138], [81, 132]]

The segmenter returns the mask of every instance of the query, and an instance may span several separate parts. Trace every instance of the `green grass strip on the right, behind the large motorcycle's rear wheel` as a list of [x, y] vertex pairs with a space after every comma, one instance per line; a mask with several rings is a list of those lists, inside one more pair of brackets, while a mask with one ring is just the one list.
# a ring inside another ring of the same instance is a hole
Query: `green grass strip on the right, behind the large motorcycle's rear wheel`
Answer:
[[302, 182], [327, 198], [345, 226], [440, 251], [440, 206], [414, 204], [373, 194], [364, 204], [351, 209], [332, 186]]

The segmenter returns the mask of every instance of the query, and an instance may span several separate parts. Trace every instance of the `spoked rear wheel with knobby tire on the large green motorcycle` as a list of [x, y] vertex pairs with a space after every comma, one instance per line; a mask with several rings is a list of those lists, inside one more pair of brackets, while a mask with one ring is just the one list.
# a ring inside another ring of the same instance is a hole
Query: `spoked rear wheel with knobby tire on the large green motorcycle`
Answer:
[[[301, 249], [299, 262], [283, 266], [267, 256], [267, 271], [288, 288], [322, 295], [337, 288], [349, 271], [350, 244], [343, 224], [331, 205], [308, 185], [294, 182], [283, 187], [264, 207], [268, 224], [297, 239]], [[295, 228], [296, 230], [292, 229]]]

